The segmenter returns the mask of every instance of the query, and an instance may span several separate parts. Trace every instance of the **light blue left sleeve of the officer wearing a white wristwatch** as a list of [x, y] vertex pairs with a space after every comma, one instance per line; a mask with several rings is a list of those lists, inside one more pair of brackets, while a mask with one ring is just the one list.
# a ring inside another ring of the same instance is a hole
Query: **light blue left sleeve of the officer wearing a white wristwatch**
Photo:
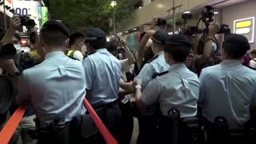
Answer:
[[142, 102], [148, 105], [152, 105], [154, 102], [158, 101], [161, 94], [161, 85], [158, 82], [158, 78], [152, 80], [146, 88], [142, 91]]

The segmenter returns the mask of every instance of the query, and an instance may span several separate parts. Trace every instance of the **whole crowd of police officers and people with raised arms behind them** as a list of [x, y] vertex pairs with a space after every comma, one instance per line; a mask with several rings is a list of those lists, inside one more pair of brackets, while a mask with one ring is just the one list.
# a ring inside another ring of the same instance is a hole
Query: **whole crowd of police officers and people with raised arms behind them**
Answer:
[[213, 24], [195, 53], [188, 35], [157, 30], [157, 21], [131, 52], [124, 38], [107, 42], [99, 28], [70, 34], [50, 20], [26, 54], [14, 15], [1, 46], [14, 44], [18, 54], [0, 58], [14, 98], [0, 128], [22, 102], [29, 106], [10, 143], [105, 143], [84, 98], [119, 143], [130, 144], [134, 118], [138, 144], [255, 142], [256, 52], [246, 65], [247, 38], [228, 34], [220, 46]]

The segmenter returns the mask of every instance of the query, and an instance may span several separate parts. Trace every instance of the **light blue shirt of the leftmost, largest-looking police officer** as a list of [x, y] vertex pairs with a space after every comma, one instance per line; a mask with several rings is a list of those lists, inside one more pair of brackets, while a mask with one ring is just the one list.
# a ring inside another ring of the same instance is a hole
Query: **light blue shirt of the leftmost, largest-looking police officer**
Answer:
[[16, 101], [32, 102], [42, 122], [49, 123], [54, 118], [69, 122], [86, 113], [85, 82], [81, 62], [61, 51], [51, 52], [42, 63], [23, 71]]

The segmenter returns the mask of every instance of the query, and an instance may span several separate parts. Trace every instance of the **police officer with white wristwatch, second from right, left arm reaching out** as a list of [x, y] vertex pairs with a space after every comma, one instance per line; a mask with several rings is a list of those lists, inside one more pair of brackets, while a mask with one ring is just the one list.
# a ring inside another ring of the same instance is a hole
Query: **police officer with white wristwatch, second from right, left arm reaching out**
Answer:
[[[190, 40], [182, 34], [174, 34], [167, 38], [164, 51], [165, 60], [170, 68], [158, 74], [158, 77], [154, 78], [143, 91], [141, 90], [142, 82], [135, 81], [135, 98], [138, 108], [159, 102], [164, 116], [167, 116], [168, 111], [173, 107], [180, 112], [181, 118], [193, 117], [197, 114], [200, 83], [197, 75], [188, 70], [185, 65], [191, 46]], [[162, 137], [155, 142], [170, 143], [168, 139], [171, 139], [171, 130], [159, 135]]]

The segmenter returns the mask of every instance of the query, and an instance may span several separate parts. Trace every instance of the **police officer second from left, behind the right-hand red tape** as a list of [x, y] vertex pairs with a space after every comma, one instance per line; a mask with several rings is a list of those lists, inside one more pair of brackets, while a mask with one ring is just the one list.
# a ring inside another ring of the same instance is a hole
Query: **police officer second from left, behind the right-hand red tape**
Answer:
[[[86, 98], [111, 134], [118, 139], [121, 121], [121, 110], [118, 106], [120, 62], [106, 50], [106, 35], [98, 28], [90, 28], [86, 36], [86, 47], [90, 52], [83, 61], [86, 71], [86, 91], [88, 92]], [[95, 141], [93, 143], [105, 142]]]

